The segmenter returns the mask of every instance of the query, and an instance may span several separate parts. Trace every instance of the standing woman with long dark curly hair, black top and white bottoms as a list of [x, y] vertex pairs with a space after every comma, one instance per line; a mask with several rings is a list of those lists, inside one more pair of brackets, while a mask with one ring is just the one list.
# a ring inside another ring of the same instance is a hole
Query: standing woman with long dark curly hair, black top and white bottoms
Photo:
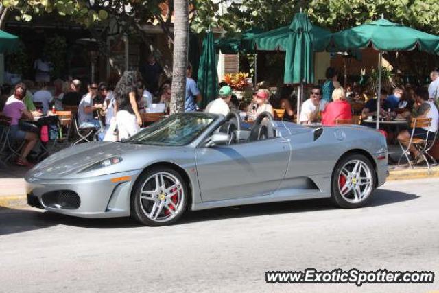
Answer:
[[139, 132], [142, 117], [137, 106], [137, 82], [141, 80], [138, 71], [125, 71], [115, 87], [117, 101], [117, 129], [119, 139], [126, 139]]

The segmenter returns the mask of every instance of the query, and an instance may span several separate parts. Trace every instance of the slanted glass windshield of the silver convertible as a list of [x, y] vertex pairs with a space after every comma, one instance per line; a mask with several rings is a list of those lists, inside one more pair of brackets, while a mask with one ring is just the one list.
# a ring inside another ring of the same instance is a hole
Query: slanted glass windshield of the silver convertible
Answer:
[[217, 117], [207, 113], [179, 113], [134, 134], [125, 143], [147, 145], [187, 145], [196, 139]]

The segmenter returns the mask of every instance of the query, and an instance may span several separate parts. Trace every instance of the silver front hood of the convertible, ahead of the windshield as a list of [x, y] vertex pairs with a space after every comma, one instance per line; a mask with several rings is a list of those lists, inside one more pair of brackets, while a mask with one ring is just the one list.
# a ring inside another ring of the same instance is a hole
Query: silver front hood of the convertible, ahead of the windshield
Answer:
[[[157, 150], [158, 147], [153, 145], [139, 145], [132, 143], [111, 143], [111, 142], [96, 142], [96, 143], [82, 143], [74, 145], [56, 154], [49, 156], [33, 169], [31, 169], [27, 176], [32, 176], [42, 179], [64, 178], [69, 174], [77, 174], [81, 169], [88, 165], [97, 163], [112, 156], [120, 156], [122, 159], [133, 152], [147, 150]], [[135, 169], [136, 166], [123, 166], [123, 160], [118, 163], [119, 171], [129, 171]], [[111, 173], [111, 168], [106, 167], [106, 172]], [[69, 176], [68, 178], [71, 178]], [[73, 176], [78, 177], [78, 176]], [[82, 177], [82, 176], [80, 176]]]

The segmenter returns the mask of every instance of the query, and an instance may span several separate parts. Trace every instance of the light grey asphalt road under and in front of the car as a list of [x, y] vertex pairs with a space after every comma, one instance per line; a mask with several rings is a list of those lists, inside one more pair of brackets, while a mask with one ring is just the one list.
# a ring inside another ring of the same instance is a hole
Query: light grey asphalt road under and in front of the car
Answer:
[[[0, 210], [0, 292], [434, 292], [439, 180], [327, 200], [213, 209], [176, 226]], [[431, 270], [429, 285], [267, 284], [268, 270]]]

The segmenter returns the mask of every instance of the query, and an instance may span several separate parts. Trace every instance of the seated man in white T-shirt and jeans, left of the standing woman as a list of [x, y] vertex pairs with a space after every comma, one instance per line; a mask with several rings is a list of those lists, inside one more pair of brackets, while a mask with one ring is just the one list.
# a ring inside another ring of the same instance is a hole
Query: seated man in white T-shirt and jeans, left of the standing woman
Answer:
[[93, 118], [93, 111], [102, 109], [102, 104], [93, 104], [93, 99], [97, 97], [97, 89], [97, 84], [90, 84], [88, 93], [81, 99], [78, 106], [78, 125], [80, 128], [100, 128], [99, 120]]

